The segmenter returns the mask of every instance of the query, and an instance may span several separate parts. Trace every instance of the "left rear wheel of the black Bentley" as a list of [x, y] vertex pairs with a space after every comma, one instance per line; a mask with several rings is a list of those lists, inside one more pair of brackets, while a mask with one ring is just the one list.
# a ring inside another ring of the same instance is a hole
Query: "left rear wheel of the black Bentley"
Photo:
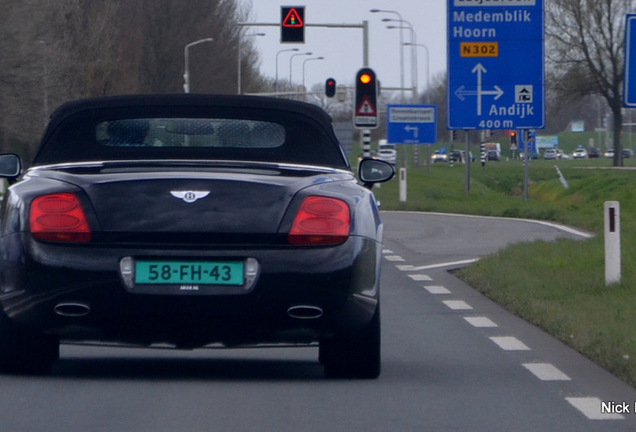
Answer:
[[20, 329], [0, 312], [0, 372], [45, 375], [59, 357], [56, 337]]

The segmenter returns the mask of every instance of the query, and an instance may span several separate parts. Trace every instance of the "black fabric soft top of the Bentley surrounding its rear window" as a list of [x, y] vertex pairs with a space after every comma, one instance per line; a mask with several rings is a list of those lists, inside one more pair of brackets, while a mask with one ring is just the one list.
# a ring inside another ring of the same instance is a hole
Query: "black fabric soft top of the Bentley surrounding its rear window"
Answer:
[[[94, 128], [101, 121], [118, 118], [161, 118], [228, 116], [254, 118], [284, 124], [288, 141], [276, 151], [237, 151], [211, 149], [104, 148], [95, 142]], [[187, 152], [187, 154], [186, 154]], [[81, 99], [61, 105], [51, 115], [35, 165], [111, 159], [203, 158], [235, 159], [238, 156], [264, 161], [308, 163], [348, 167], [348, 161], [331, 124], [331, 117], [320, 107], [304, 102], [246, 95], [140, 94]]]

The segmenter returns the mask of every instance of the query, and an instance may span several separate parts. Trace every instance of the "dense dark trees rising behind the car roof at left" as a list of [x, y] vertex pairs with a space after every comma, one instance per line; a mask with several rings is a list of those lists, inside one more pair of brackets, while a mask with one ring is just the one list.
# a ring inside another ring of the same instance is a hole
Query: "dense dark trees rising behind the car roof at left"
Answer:
[[51, 112], [83, 97], [266, 85], [237, 0], [9, 0], [0, 14], [0, 151], [33, 156]]

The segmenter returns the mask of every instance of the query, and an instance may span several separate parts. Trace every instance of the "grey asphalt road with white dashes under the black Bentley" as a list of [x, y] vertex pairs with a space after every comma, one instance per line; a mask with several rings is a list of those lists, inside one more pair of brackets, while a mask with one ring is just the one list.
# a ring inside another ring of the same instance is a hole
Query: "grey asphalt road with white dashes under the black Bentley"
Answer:
[[[384, 213], [383, 373], [323, 378], [317, 348], [62, 347], [0, 376], [0, 431], [632, 431], [636, 390], [448, 269], [558, 236], [523, 221]], [[602, 406], [629, 413], [601, 414]]]

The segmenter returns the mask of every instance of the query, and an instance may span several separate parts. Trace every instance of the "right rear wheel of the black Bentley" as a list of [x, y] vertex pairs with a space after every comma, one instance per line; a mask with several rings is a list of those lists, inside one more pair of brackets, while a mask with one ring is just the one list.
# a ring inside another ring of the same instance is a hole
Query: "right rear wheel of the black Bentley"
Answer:
[[380, 305], [361, 332], [322, 340], [319, 355], [327, 378], [374, 379], [380, 376]]

